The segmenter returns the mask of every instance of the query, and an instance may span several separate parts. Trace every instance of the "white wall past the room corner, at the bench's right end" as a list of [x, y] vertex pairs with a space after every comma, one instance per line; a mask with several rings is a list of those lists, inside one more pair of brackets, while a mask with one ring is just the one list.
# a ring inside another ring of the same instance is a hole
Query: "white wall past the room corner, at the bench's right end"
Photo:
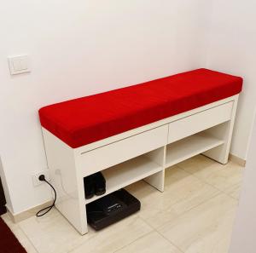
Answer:
[[231, 153], [246, 159], [256, 105], [255, 1], [214, 0], [209, 16], [207, 67], [244, 77]]

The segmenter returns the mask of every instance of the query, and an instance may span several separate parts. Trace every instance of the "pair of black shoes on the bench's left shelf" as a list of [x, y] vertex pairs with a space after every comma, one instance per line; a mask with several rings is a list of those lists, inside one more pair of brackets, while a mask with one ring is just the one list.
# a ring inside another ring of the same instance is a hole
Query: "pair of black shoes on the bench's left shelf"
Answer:
[[85, 198], [92, 198], [94, 195], [100, 196], [106, 193], [106, 180], [102, 172], [84, 177]]

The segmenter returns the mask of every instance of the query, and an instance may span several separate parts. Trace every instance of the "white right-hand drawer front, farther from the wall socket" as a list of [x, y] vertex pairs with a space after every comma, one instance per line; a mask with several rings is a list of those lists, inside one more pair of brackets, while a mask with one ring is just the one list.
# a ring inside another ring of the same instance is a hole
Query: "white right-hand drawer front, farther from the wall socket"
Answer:
[[233, 101], [170, 123], [168, 143], [181, 140], [230, 120], [232, 108]]

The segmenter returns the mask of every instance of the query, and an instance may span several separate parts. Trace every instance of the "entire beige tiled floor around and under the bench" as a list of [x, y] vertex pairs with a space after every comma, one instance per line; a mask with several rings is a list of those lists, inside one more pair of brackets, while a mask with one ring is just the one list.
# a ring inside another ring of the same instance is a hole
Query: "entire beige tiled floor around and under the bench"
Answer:
[[57, 210], [18, 224], [3, 219], [28, 253], [227, 253], [243, 168], [203, 156], [166, 170], [165, 193], [144, 181], [127, 187], [142, 210], [80, 236]]

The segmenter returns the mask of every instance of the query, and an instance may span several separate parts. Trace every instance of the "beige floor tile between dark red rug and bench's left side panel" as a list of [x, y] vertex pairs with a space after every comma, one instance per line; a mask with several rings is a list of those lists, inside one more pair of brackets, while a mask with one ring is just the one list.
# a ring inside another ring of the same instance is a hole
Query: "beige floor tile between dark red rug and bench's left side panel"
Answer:
[[91, 230], [81, 236], [55, 209], [47, 216], [20, 221], [19, 226], [39, 253], [68, 252], [96, 235]]

